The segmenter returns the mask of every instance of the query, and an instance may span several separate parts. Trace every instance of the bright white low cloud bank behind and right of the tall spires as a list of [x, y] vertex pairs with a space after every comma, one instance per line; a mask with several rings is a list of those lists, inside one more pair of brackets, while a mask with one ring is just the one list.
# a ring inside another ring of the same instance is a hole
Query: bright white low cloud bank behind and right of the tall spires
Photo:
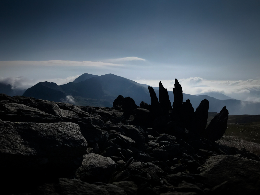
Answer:
[[[150, 86], [159, 87], [160, 80], [142, 80], [140, 77], [135, 80], [138, 83], [145, 83]], [[238, 100], [260, 102], [260, 80], [249, 79], [246, 81], [214, 81], [204, 80], [200, 77], [178, 79], [186, 94], [206, 94], [217, 92]], [[172, 91], [174, 80], [161, 80], [168, 91]]]

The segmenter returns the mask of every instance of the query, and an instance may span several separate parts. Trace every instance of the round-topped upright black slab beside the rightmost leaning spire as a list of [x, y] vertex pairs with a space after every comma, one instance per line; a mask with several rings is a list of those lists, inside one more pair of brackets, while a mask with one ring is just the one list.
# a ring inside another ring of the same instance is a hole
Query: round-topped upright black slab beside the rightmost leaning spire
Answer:
[[196, 114], [196, 133], [198, 135], [205, 131], [209, 112], [209, 101], [204, 99], [200, 102], [198, 108], [195, 111]]

